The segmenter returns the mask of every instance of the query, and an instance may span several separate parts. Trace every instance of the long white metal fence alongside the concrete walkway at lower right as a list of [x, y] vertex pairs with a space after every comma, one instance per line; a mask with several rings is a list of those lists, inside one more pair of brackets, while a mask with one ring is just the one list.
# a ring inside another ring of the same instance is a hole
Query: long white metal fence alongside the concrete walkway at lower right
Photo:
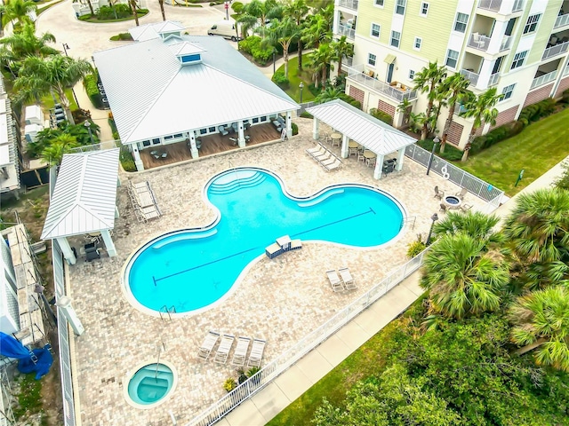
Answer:
[[235, 390], [229, 392], [223, 398], [206, 408], [201, 414], [197, 415], [193, 420], [186, 423], [186, 426], [208, 426], [232, 411], [236, 406], [244, 402], [245, 399], [251, 398], [252, 395], [271, 383], [278, 375], [287, 368], [301, 359], [304, 355], [312, 351], [320, 343], [323, 343], [328, 337], [333, 335], [341, 327], [357, 316], [365, 308], [373, 304], [381, 296], [384, 296], [391, 288], [394, 288], [401, 281], [405, 280], [413, 272], [417, 271], [423, 262], [423, 256], [429, 251], [424, 250], [418, 256], [413, 257], [406, 264], [401, 265], [395, 271], [381, 280], [372, 289], [364, 295], [359, 296], [357, 300], [346, 306], [341, 312], [338, 312], [333, 318], [326, 321], [322, 326], [317, 327], [309, 335], [304, 336], [300, 342], [287, 351], [284, 351], [277, 359], [263, 367], [256, 375], [240, 384]]

